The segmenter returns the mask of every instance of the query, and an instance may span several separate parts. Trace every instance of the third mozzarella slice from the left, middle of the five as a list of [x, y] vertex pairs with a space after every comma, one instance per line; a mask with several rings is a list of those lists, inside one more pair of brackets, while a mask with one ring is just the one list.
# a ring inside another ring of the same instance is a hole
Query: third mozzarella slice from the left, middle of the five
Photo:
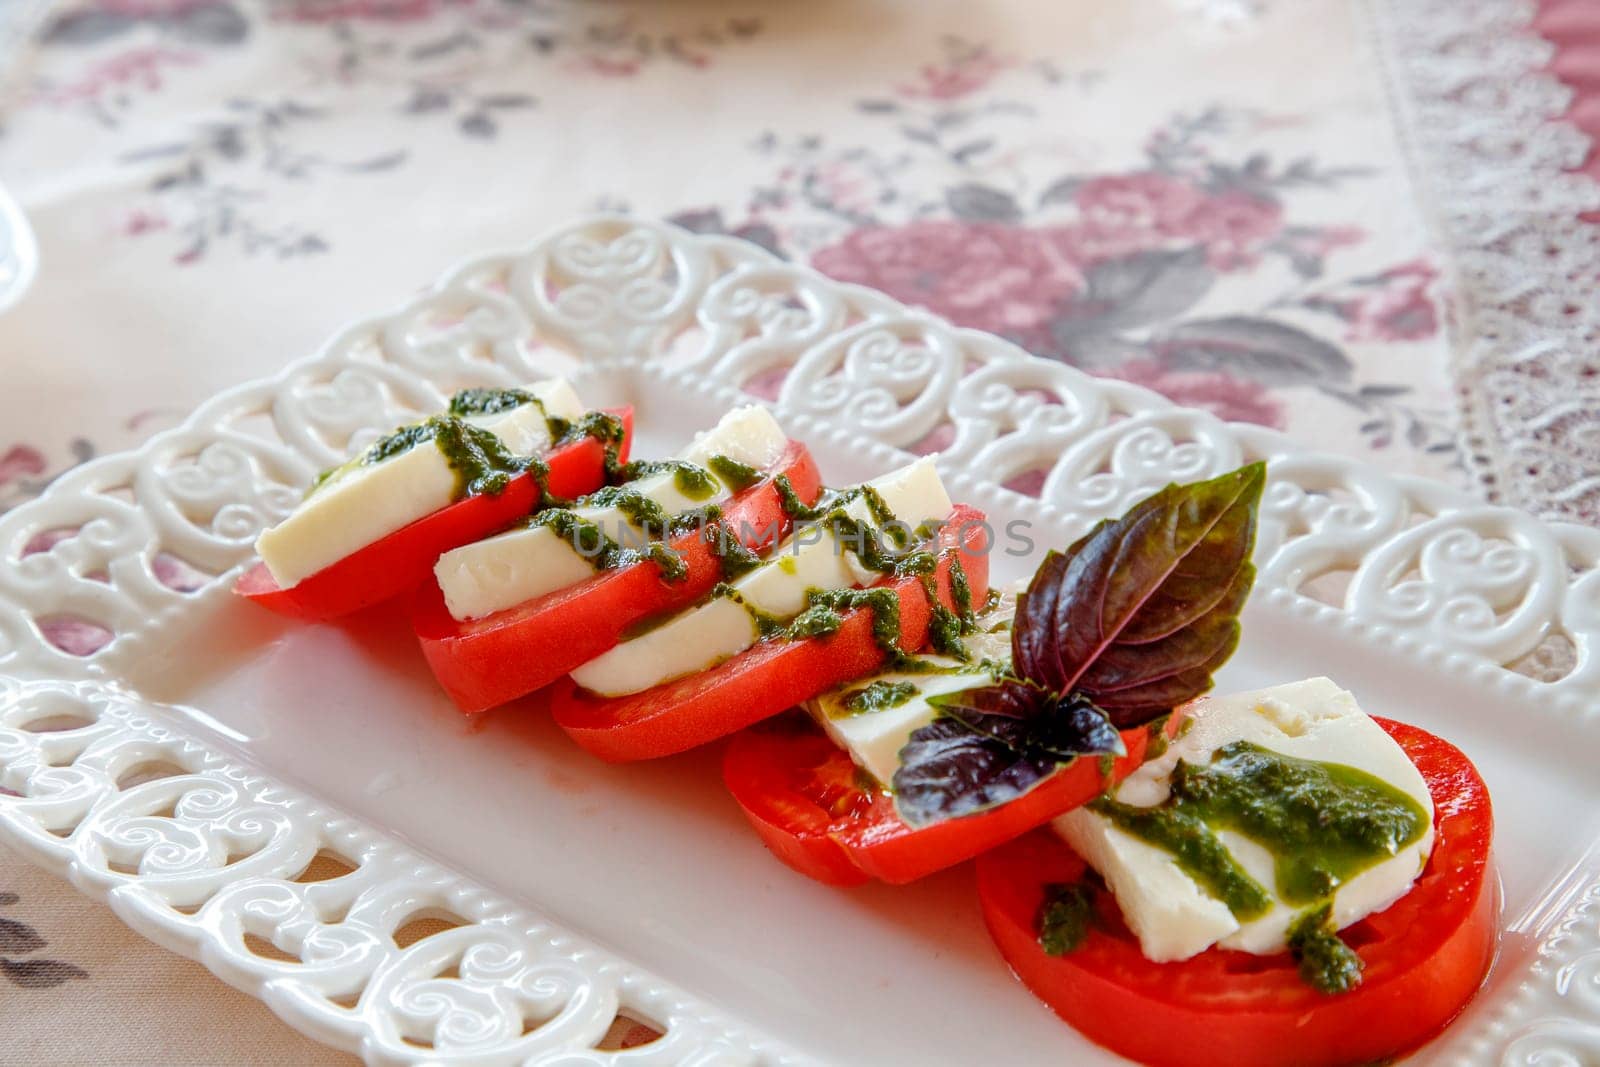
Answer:
[[[869, 482], [894, 518], [909, 528], [944, 518], [950, 496], [931, 459], [901, 467]], [[854, 499], [845, 514], [872, 522], [866, 499]], [[717, 597], [690, 608], [653, 630], [622, 641], [573, 672], [573, 680], [602, 696], [640, 693], [739, 654], [760, 638], [750, 609], [776, 619], [792, 619], [806, 608], [813, 589], [850, 589], [878, 579], [848, 542], [842, 544], [821, 525], [795, 531], [765, 563], [733, 582], [733, 597]]]

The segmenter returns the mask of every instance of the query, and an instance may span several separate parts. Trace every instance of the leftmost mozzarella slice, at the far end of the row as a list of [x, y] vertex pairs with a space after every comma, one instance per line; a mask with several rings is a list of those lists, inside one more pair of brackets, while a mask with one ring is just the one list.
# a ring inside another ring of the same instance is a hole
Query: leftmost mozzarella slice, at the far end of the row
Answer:
[[[494, 434], [518, 456], [550, 445], [546, 414], [578, 419], [578, 394], [563, 378], [528, 387], [539, 403], [467, 419]], [[541, 410], [542, 405], [542, 410]], [[256, 555], [272, 579], [288, 589], [357, 549], [430, 515], [454, 501], [456, 472], [432, 443], [376, 464], [350, 464], [336, 472], [294, 512], [256, 539]]]

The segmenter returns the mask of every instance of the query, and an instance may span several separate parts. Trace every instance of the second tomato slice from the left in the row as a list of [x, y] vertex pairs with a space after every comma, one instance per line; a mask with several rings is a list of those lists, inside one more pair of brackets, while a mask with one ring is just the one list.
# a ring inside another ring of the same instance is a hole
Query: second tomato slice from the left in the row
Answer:
[[[811, 453], [789, 442], [766, 478], [733, 496], [717, 523], [755, 552], [765, 552], [792, 526], [774, 485], [778, 475], [787, 475], [806, 504], [822, 490]], [[416, 592], [411, 625], [427, 665], [456, 707], [482, 712], [589, 662], [621, 641], [635, 622], [709, 593], [722, 581], [722, 561], [712, 544], [714, 536], [698, 530], [669, 542], [688, 568], [677, 581], [662, 579], [654, 561], [642, 560], [467, 622], [450, 614], [445, 593], [430, 577]]]

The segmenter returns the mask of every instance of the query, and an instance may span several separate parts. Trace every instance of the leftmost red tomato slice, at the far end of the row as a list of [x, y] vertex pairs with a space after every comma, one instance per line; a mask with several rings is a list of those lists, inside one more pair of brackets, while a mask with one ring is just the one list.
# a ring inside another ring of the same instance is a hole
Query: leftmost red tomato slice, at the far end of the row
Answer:
[[[634, 440], [634, 408], [611, 408], [622, 421], [618, 459], [627, 459]], [[605, 482], [605, 445], [584, 437], [544, 456], [547, 483], [555, 496], [581, 496]], [[480, 493], [442, 507], [330, 563], [315, 574], [280, 589], [266, 563], [256, 563], [234, 582], [234, 592], [291, 619], [322, 622], [408, 593], [434, 573], [445, 552], [486, 537], [539, 506], [539, 485], [520, 474], [499, 493]]]

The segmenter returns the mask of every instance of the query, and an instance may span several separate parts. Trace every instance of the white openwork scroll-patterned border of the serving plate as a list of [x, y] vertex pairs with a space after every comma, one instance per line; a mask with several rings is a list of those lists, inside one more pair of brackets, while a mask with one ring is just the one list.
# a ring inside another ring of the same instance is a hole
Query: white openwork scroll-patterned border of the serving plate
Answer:
[[[1037, 483], [1037, 499], [1014, 502], [1062, 530], [1267, 459], [1258, 590], [1272, 605], [1574, 721], [1600, 709], [1600, 531], [1222, 424], [744, 242], [603, 216], [474, 259], [0, 517], [0, 840], [368, 1062], [613, 1062], [595, 1045], [619, 1013], [666, 1032], [626, 1062], [798, 1062], [173, 728], [118, 683], [147, 641], [227, 595], [256, 533], [317, 469], [454, 387], [563, 370], [776, 390], [802, 435], [886, 459], [939, 448], [957, 496]], [[312, 881], [318, 854], [354, 870]], [[1600, 971], [1600, 931], [1581, 921], [1600, 881], [1568, 899], [1542, 934], [1536, 989], [1462, 1035], [1474, 1057], [1538, 1041], [1528, 1019], [1558, 1046], [1600, 1049], [1600, 998], [1568, 997], [1560, 977]], [[462, 925], [395, 942], [440, 917]]]

